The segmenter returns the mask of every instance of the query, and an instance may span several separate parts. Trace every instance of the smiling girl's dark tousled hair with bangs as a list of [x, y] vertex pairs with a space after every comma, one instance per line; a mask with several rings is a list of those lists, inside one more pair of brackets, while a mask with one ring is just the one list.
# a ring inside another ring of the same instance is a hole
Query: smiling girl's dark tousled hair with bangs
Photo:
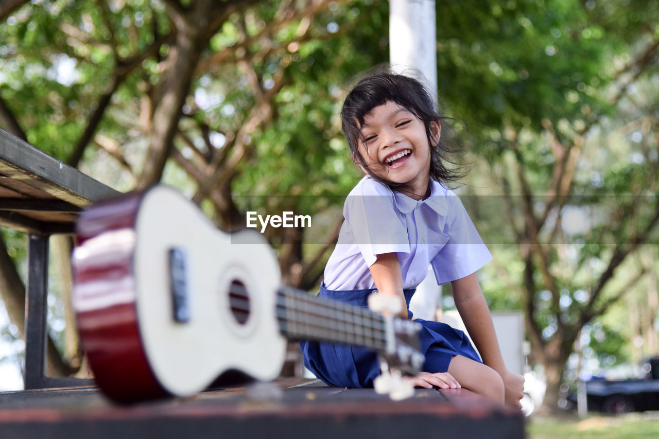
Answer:
[[[399, 183], [389, 183], [375, 175], [368, 164], [359, 153], [360, 143], [366, 144], [360, 127], [364, 125], [364, 118], [379, 105], [388, 101], [395, 102], [401, 107], [413, 113], [426, 127], [426, 136], [430, 144], [430, 178], [440, 182], [449, 183], [464, 177], [466, 171], [460, 167], [449, 169], [445, 163], [457, 164], [451, 160], [450, 154], [461, 152], [460, 148], [451, 147], [453, 140], [453, 126], [451, 123], [442, 123], [445, 120], [455, 122], [451, 117], [439, 115], [435, 105], [430, 98], [430, 93], [415, 78], [397, 73], [374, 73], [362, 78], [349, 92], [343, 102], [341, 110], [341, 128], [348, 141], [353, 160], [355, 160], [368, 175], [389, 185], [391, 189], [399, 189]], [[442, 126], [440, 139], [438, 140], [430, 131], [433, 121]]]

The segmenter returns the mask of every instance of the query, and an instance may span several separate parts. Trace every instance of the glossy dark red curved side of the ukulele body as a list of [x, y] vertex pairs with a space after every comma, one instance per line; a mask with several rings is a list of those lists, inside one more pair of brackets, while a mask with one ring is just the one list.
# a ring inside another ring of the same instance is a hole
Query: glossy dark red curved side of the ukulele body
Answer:
[[[77, 226], [74, 254], [74, 307], [78, 332], [97, 384], [112, 399], [166, 395], [142, 349], [135, 308], [131, 249], [121, 240], [108, 243], [104, 258], [80, 254], [88, 239], [135, 228], [142, 194], [101, 202], [84, 212]], [[114, 241], [114, 240], [113, 240]], [[86, 289], [94, 289], [96, 305], [84, 305]]]

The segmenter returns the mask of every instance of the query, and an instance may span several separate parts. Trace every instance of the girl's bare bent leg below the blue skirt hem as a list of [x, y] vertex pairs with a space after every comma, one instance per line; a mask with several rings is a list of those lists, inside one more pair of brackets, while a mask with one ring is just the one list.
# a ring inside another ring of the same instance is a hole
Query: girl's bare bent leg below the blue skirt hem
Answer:
[[448, 372], [463, 388], [503, 404], [505, 398], [503, 380], [490, 366], [456, 355], [451, 359]]

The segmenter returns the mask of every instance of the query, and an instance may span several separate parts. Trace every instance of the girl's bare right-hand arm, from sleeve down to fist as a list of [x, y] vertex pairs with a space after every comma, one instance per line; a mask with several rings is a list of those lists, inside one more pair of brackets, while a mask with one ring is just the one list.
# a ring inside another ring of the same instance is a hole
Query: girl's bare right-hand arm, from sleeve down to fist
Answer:
[[476, 274], [451, 282], [455, 307], [474, 341], [483, 363], [490, 366], [503, 379], [505, 403], [521, 409], [519, 400], [524, 392], [524, 378], [510, 372], [503, 363], [499, 341], [494, 331], [490, 308], [485, 301]]

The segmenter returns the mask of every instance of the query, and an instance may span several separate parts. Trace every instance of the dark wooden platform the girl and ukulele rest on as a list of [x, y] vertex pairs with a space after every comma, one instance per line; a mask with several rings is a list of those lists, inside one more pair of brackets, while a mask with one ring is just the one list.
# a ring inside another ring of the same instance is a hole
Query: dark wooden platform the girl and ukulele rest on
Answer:
[[3, 439], [525, 437], [521, 412], [467, 390], [417, 389], [391, 401], [372, 389], [289, 378], [129, 407], [93, 388], [0, 394]]

